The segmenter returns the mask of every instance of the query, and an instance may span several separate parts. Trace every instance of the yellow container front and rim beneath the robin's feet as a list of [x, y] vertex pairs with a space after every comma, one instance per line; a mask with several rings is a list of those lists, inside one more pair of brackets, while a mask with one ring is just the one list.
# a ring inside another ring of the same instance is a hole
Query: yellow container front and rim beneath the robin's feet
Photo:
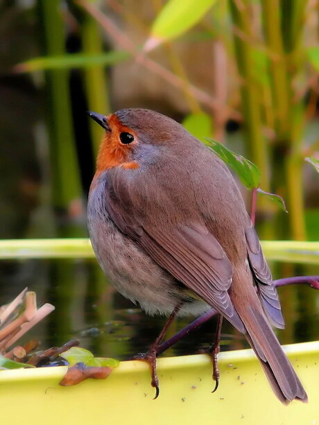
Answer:
[[107, 379], [72, 387], [58, 385], [66, 367], [0, 371], [1, 419], [33, 425], [319, 424], [319, 341], [284, 349], [308, 404], [283, 406], [252, 350], [241, 350], [219, 356], [221, 381], [213, 394], [208, 356], [160, 358], [156, 400], [148, 365], [141, 361], [121, 362]]

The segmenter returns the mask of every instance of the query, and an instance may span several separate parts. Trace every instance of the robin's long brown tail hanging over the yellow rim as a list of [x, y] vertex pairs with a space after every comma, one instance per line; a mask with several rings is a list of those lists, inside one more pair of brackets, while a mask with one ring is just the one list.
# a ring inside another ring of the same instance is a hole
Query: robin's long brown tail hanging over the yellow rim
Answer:
[[307, 402], [307, 394], [302, 383], [270, 327], [255, 290], [248, 291], [243, 299], [242, 289], [240, 302], [239, 297], [236, 297], [236, 287], [232, 301], [245, 325], [247, 331], [245, 337], [259, 358], [275, 394], [284, 404], [290, 403], [293, 399]]

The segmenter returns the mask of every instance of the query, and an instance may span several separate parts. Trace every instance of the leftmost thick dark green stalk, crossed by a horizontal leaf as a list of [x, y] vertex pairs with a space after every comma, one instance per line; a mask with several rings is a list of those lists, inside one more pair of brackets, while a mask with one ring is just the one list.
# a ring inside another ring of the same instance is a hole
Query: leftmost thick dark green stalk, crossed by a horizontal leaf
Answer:
[[[64, 23], [59, 0], [37, 1], [44, 53], [62, 55], [64, 49]], [[67, 210], [70, 202], [81, 198], [80, 173], [76, 158], [68, 71], [46, 71], [46, 108], [51, 124], [51, 164], [53, 205]]]

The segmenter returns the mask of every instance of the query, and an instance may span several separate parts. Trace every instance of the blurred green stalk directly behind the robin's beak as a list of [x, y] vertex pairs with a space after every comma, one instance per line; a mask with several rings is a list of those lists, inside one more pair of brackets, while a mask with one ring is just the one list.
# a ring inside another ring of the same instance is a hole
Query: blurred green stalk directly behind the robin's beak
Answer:
[[[96, 0], [90, 1], [91, 3], [96, 3]], [[88, 13], [83, 14], [81, 30], [83, 53], [92, 55], [103, 53], [101, 30], [96, 24], [96, 20]], [[85, 69], [84, 75], [89, 110], [101, 114], [109, 114], [111, 112], [111, 107], [105, 67], [101, 65], [89, 67]], [[96, 157], [103, 132], [92, 120], [89, 121], [89, 126], [92, 136], [94, 157]]]

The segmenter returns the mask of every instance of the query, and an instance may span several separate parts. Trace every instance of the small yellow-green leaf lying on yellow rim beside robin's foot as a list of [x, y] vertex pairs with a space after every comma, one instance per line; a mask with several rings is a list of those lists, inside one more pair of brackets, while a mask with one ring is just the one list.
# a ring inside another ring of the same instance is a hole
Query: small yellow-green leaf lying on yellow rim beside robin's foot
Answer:
[[119, 361], [115, 358], [94, 357], [92, 352], [81, 347], [71, 347], [60, 354], [60, 357], [65, 358], [70, 366], [76, 365], [76, 363], [84, 363], [85, 366], [92, 367], [117, 367], [119, 365]]

